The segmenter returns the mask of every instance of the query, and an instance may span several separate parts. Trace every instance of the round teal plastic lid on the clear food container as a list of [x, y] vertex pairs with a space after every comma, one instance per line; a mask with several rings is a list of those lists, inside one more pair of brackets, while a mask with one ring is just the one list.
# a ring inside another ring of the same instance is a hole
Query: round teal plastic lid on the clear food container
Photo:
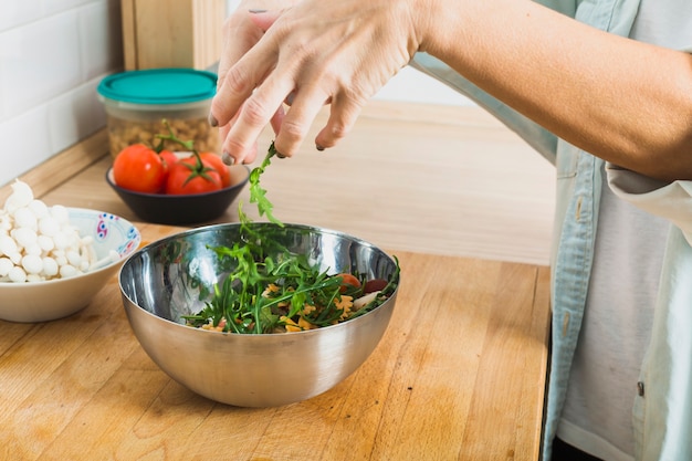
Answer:
[[98, 94], [136, 104], [182, 104], [209, 99], [217, 92], [217, 75], [195, 69], [150, 69], [108, 75]]

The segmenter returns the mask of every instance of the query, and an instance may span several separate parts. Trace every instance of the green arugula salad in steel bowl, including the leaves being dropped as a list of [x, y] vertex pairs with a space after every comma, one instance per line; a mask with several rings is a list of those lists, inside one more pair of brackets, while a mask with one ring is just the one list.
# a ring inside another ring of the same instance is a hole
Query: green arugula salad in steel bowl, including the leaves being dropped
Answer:
[[[274, 144], [250, 174], [250, 202], [260, 216], [283, 228], [273, 216], [273, 205], [260, 186], [260, 176], [276, 155]], [[213, 296], [195, 315], [185, 316], [189, 326], [241, 334], [302, 332], [334, 325], [363, 315], [382, 304], [399, 281], [399, 262], [389, 280], [366, 280], [363, 274], [327, 274], [307, 256], [289, 251], [263, 228], [253, 228], [239, 206], [241, 241], [211, 248], [234, 268]], [[334, 269], [337, 270], [337, 269]]]

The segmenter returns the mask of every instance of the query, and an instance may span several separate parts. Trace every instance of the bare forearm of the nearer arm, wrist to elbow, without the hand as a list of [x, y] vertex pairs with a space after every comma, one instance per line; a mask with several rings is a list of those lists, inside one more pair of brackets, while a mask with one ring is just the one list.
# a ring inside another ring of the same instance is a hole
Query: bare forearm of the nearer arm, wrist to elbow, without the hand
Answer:
[[423, 3], [422, 51], [608, 161], [692, 179], [689, 54], [597, 31], [532, 1]]

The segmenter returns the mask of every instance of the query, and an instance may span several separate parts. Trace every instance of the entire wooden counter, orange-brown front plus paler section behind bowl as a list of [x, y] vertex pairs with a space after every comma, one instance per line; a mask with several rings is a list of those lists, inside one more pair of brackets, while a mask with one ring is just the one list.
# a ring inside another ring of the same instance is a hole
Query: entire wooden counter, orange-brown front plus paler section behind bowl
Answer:
[[[49, 205], [137, 221], [103, 179], [105, 140], [96, 133], [22, 179]], [[339, 147], [304, 146], [263, 176], [283, 221], [399, 258], [395, 314], [363, 367], [286, 407], [209, 401], [139, 347], [114, 277], [69, 318], [0, 321], [0, 459], [536, 460], [553, 175], [480, 109], [370, 104]], [[256, 218], [247, 189], [240, 200]], [[146, 241], [178, 230], [138, 227]]]

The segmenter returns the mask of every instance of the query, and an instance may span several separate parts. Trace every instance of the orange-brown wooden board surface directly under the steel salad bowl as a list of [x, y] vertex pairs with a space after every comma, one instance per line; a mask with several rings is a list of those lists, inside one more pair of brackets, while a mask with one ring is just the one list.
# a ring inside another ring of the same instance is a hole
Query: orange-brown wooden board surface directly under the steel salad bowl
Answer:
[[[141, 224], [145, 241], [175, 229]], [[397, 252], [381, 343], [307, 401], [243, 409], [169, 379], [134, 337], [114, 277], [84, 311], [0, 322], [0, 459], [536, 460], [546, 266]]]

